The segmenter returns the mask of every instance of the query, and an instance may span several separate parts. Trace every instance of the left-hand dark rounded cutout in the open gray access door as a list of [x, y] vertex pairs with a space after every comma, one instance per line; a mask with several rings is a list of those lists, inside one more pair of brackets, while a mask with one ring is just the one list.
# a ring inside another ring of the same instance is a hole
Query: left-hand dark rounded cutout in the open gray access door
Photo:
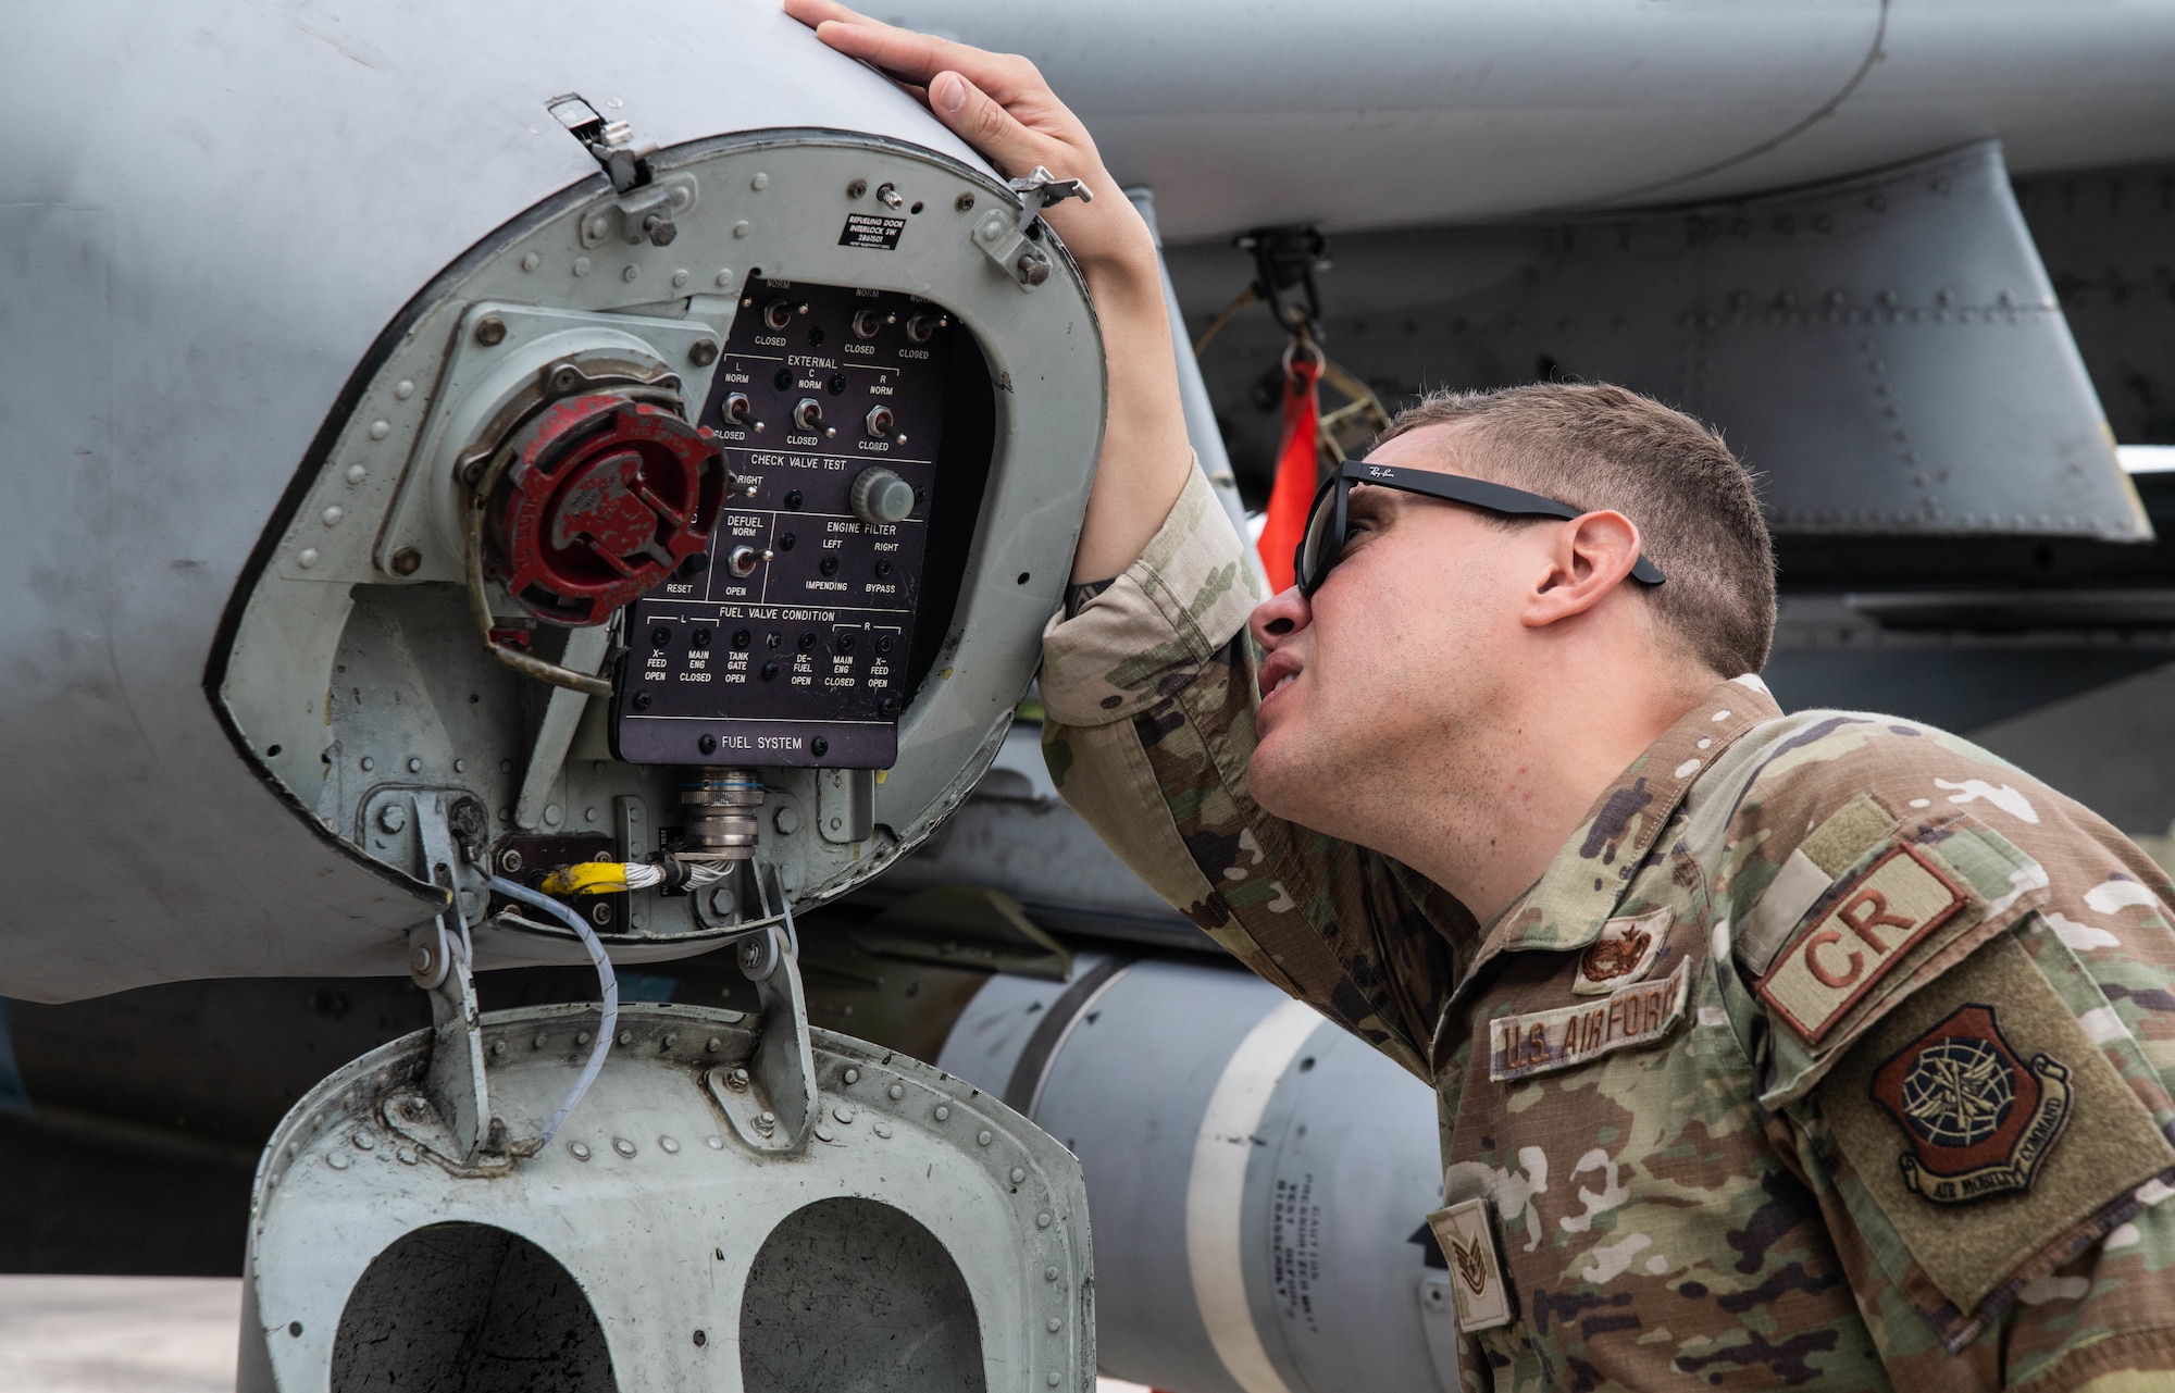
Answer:
[[[348, 1293], [333, 1393], [618, 1393], [605, 1328], [574, 1275], [487, 1223], [433, 1223]], [[979, 1386], [979, 1384], [977, 1384]]]

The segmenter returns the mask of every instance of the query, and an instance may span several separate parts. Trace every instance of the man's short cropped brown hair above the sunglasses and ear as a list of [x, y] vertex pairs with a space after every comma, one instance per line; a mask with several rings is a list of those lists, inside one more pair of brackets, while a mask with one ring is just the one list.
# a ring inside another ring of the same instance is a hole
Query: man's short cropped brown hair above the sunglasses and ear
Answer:
[[1431, 392], [1377, 444], [1425, 427], [1457, 427], [1462, 455], [1494, 483], [1631, 518], [1666, 577], [1646, 594], [1688, 655], [1720, 677], [1766, 664], [1775, 546], [1753, 479], [1718, 431], [1623, 387], [1531, 383]]

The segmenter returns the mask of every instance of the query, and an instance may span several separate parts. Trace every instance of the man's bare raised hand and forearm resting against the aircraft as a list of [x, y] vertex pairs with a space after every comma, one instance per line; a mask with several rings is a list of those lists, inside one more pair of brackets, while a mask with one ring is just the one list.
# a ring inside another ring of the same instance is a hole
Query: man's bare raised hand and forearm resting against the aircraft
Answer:
[[1094, 202], [1068, 200], [1042, 215], [1088, 276], [1109, 363], [1103, 457], [1072, 579], [1118, 575], [1164, 525], [1192, 461], [1148, 224], [1103, 168], [1088, 126], [1027, 59], [879, 24], [835, 0], [785, 0], [785, 13], [842, 54], [887, 72], [1007, 178], [1044, 165], [1094, 192]]

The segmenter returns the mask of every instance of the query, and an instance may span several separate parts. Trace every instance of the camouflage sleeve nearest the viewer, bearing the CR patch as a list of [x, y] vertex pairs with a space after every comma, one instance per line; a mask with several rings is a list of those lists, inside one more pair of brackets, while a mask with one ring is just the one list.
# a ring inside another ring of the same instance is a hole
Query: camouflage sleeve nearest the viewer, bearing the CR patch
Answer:
[[1842, 714], [1731, 845], [1733, 1025], [1897, 1386], [2175, 1373], [2166, 875], [1964, 740]]

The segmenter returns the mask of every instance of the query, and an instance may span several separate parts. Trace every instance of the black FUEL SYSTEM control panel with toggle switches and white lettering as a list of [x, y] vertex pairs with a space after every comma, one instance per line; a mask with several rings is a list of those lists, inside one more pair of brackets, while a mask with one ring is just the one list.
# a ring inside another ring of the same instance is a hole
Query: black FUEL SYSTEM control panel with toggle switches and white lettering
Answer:
[[629, 607], [622, 760], [896, 762], [955, 333], [918, 296], [748, 279], [698, 422], [724, 507]]

